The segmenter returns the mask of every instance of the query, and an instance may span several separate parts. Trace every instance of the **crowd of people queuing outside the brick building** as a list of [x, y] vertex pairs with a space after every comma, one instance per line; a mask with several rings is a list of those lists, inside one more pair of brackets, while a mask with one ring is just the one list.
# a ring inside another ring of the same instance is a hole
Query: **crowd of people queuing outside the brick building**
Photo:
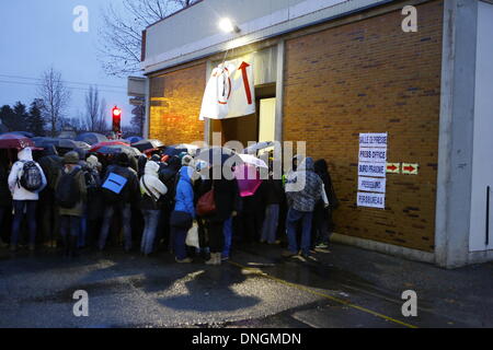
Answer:
[[[123, 245], [146, 256], [168, 250], [176, 262], [220, 265], [233, 245], [260, 242], [284, 245], [285, 257], [307, 257], [328, 247], [336, 207], [324, 160], [295, 156], [282, 179], [271, 170], [254, 194], [242, 196], [220, 166], [198, 172], [187, 152], [0, 150], [0, 245], [11, 252], [46, 246], [74, 257]], [[186, 244], [191, 230], [196, 247]]]

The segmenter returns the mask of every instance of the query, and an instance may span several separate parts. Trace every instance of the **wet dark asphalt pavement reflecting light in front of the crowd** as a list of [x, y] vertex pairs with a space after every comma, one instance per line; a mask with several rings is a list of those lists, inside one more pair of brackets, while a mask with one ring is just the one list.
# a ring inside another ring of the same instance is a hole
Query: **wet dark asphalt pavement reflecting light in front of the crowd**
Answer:
[[[72, 313], [89, 294], [89, 316]], [[404, 317], [401, 293], [417, 294]], [[233, 250], [231, 261], [175, 264], [118, 248], [12, 254], [0, 248], [0, 327], [493, 327], [493, 264], [445, 270], [334, 244], [313, 259], [278, 246]]]

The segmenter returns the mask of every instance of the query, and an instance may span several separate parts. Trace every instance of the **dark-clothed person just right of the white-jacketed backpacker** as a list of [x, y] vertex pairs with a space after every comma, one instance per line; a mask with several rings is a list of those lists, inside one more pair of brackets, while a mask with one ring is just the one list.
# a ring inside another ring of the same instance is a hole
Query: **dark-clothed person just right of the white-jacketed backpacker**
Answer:
[[58, 155], [55, 145], [48, 144], [43, 150], [38, 162], [47, 180], [46, 188], [39, 192], [43, 242], [45, 246], [55, 248], [59, 233], [59, 213], [55, 203], [55, 185], [64, 166], [64, 160]]

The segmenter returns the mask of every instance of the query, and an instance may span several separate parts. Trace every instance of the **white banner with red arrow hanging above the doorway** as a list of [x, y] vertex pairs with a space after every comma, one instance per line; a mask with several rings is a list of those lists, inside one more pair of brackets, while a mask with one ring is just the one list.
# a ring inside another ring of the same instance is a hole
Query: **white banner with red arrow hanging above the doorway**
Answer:
[[226, 119], [255, 113], [253, 56], [216, 67], [207, 82], [199, 119]]

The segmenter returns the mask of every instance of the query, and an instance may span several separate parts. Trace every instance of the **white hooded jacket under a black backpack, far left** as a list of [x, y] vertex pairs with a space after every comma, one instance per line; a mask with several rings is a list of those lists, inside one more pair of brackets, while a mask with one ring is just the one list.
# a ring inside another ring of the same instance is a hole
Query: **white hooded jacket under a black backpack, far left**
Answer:
[[20, 182], [18, 182], [18, 178], [20, 177], [20, 173], [22, 168], [24, 167], [25, 162], [33, 162], [33, 153], [31, 151], [31, 148], [25, 148], [18, 153], [19, 161], [14, 163], [12, 166], [12, 171], [9, 175], [9, 189], [12, 194], [13, 200], [38, 200], [41, 192], [46, 187], [46, 176], [43, 172], [43, 168], [39, 166], [39, 164], [36, 164], [36, 166], [39, 168], [41, 175], [42, 175], [42, 186], [36, 191], [30, 191], [21, 186]]

